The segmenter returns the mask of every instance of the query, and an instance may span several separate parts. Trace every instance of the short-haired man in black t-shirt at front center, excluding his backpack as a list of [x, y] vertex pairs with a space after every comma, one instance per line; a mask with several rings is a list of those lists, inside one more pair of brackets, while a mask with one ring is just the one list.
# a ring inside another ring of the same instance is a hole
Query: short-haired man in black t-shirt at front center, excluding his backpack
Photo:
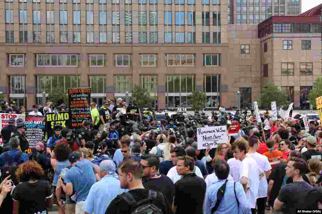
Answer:
[[[128, 189], [133, 198], [138, 202], [146, 199], [149, 195], [149, 190], [143, 188], [141, 164], [135, 159], [128, 159], [121, 162], [118, 167], [118, 178], [121, 183], [122, 189]], [[124, 194], [118, 195], [107, 208], [105, 214], [124, 214], [132, 213], [135, 208], [131, 208], [131, 205], [123, 198]], [[159, 208], [163, 214], [171, 214], [171, 207], [168, 200], [162, 193], [156, 193], [156, 200], [150, 201], [157, 208]]]

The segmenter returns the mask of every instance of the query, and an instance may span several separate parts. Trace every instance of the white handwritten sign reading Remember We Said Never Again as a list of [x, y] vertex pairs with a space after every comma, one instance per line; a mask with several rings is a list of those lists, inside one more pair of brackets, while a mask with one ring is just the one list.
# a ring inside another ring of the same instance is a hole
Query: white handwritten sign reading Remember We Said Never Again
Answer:
[[197, 141], [198, 150], [206, 149], [209, 145], [217, 148], [218, 144], [227, 142], [227, 126], [197, 128]]

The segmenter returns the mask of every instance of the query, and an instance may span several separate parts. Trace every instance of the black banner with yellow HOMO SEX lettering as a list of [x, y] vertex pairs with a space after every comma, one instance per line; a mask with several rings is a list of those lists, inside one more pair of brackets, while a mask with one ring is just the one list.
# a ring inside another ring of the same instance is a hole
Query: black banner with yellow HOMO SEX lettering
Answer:
[[46, 114], [46, 132], [48, 139], [53, 135], [55, 124], [61, 124], [63, 128], [70, 127], [69, 111], [61, 111], [58, 114]]

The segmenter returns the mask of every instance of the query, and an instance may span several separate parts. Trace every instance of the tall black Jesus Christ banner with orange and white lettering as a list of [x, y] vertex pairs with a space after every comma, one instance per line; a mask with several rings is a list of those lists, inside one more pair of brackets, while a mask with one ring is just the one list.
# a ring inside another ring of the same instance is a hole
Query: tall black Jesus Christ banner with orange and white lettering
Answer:
[[70, 128], [83, 126], [83, 120], [91, 121], [90, 112], [90, 88], [77, 88], [68, 90]]

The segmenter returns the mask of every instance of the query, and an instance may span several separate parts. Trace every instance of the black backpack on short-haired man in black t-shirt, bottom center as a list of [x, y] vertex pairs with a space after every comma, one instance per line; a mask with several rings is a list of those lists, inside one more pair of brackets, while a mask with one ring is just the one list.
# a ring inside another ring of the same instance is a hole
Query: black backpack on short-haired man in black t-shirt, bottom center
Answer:
[[141, 201], [136, 201], [131, 193], [123, 193], [122, 198], [131, 206], [131, 214], [163, 214], [162, 210], [156, 207], [156, 191], [149, 190], [149, 196]]

